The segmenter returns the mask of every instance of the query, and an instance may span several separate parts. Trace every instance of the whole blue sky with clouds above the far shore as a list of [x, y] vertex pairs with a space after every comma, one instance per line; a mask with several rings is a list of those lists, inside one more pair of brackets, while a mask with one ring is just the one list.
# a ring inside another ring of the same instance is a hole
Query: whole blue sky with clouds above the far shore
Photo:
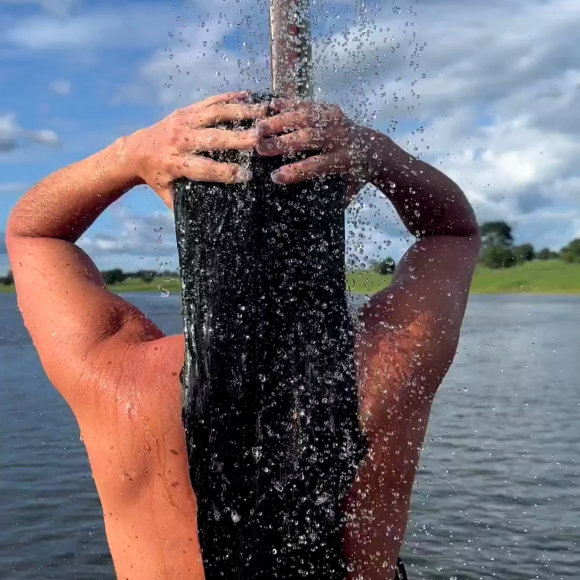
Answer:
[[[313, 5], [319, 98], [375, 128], [396, 121], [391, 136], [458, 181], [480, 221], [505, 219], [539, 247], [580, 237], [580, 2]], [[0, 231], [18, 197], [63, 165], [208, 94], [267, 88], [266, 8], [0, 0]], [[103, 269], [174, 267], [172, 227], [140, 188], [82, 245]], [[373, 193], [349, 228], [367, 256], [408, 245]]]

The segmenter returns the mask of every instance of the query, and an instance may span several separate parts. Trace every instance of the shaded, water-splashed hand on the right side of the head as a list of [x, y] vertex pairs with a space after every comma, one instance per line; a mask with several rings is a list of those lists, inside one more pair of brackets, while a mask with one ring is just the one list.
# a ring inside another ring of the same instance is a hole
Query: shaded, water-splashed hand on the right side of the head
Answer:
[[353, 124], [336, 105], [279, 99], [270, 110], [278, 114], [258, 124], [263, 136], [256, 147], [259, 155], [320, 152], [275, 171], [272, 174], [275, 183], [292, 184], [341, 175], [347, 182], [349, 202], [369, 181], [374, 131]]

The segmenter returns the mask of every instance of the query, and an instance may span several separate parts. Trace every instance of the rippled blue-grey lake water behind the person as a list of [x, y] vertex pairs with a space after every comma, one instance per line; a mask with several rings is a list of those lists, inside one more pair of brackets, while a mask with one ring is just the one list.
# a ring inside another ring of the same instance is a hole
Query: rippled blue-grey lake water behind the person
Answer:
[[[181, 332], [177, 296], [126, 297]], [[0, 578], [114, 578], [78, 428], [13, 295], [0, 369]], [[579, 377], [580, 298], [471, 299], [413, 496], [411, 580], [580, 578]]]

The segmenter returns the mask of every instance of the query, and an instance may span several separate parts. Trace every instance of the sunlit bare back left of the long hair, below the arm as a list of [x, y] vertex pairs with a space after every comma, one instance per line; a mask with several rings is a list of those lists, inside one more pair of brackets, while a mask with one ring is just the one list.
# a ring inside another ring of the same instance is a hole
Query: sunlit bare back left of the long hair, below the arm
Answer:
[[74, 406], [119, 578], [203, 578], [182, 360], [181, 337], [105, 351], [86, 391], [93, 400]]

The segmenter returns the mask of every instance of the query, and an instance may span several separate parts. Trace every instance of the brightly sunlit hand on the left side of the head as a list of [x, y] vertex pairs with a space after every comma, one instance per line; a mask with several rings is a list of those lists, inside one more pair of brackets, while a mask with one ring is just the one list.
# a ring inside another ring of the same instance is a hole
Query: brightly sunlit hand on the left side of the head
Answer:
[[261, 137], [258, 129], [216, 129], [218, 123], [265, 118], [268, 103], [249, 104], [249, 91], [210, 97], [178, 109], [151, 127], [125, 139], [125, 161], [134, 182], [146, 183], [173, 208], [172, 183], [192, 181], [243, 183], [249, 170], [236, 163], [219, 163], [197, 153], [251, 150]]

